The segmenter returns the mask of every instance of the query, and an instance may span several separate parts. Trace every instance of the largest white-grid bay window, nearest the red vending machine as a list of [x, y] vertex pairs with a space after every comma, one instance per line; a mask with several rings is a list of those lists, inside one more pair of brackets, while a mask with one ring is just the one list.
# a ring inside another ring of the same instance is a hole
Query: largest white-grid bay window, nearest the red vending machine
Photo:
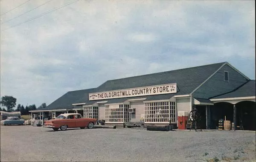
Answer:
[[144, 103], [145, 123], [175, 123], [175, 102]]

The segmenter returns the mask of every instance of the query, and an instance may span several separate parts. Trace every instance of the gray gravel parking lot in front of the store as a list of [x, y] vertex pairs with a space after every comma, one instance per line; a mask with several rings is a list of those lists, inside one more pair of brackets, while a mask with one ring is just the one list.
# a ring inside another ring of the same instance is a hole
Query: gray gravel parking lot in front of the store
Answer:
[[1, 126], [3, 161], [253, 161], [255, 132]]

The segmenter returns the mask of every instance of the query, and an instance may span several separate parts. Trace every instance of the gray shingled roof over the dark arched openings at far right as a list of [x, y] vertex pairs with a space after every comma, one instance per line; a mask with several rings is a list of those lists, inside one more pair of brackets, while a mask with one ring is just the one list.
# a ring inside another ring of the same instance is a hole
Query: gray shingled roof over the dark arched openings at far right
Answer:
[[214, 97], [217, 98], [236, 98], [236, 97], [250, 97], [255, 96], [255, 80], [250, 80], [240, 88], [236, 89], [233, 92]]

